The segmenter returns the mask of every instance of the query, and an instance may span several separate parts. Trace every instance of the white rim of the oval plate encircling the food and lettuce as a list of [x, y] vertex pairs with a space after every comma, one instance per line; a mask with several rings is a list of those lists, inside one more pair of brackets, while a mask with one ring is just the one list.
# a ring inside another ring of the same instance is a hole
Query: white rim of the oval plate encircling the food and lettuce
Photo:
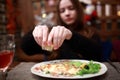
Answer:
[[40, 73], [36, 73], [34, 72], [34, 68], [39, 66], [39, 65], [42, 65], [42, 64], [47, 64], [47, 63], [53, 63], [53, 62], [60, 62], [60, 61], [65, 61], [65, 60], [69, 60], [69, 61], [80, 61], [80, 62], [90, 62], [91, 60], [80, 60], [80, 59], [60, 59], [60, 60], [49, 60], [49, 61], [43, 61], [43, 62], [39, 62], [39, 63], [36, 63], [34, 64], [32, 67], [31, 67], [31, 72], [37, 76], [40, 76], [40, 77], [44, 77], [44, 78], [53, 78], [53, 79], [87, 79], [87, 78], [92, 78], [92, 77], [97, 77], [97, 76], [101, 76], [103, 74], [105, 74], [108, 70], [107, 66], [102, 63], [102, 62], [98, 62], [98, 61], [93, 61], [94, 63], [99, 63], [101, 65], [101, 70], [98, 72], [98, 73], [95, 73], [95, 74], [85, 74], [83, 76], [80, 76], [80, 75], [77, 75], [77, 76], [74, 76], [74, 77], [66, 77], [66, 76], [50, 76], [49, 74], [40, 74]]

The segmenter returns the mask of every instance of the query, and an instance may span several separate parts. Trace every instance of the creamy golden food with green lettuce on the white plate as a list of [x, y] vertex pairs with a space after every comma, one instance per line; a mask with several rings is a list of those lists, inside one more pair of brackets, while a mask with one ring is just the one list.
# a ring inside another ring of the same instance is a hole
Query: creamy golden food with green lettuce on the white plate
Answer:
[[84, 74], [98, 73], [100, 69], [100, 64], [94, 63], [94, 61], [80, 62], [70, 60], [43, 64], [35, 68], [37, 71], [52, 76], [83, 76]]

